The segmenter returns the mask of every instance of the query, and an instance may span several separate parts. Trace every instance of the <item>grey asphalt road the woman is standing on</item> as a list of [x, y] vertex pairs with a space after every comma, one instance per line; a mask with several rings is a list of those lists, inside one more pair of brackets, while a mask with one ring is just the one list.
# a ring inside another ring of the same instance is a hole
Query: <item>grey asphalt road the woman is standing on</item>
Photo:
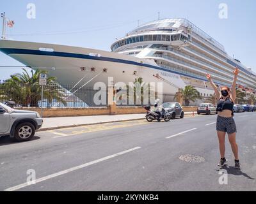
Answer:
[[229, 166], [217, 166], [216, 115], [44, 131], [25, 143], [1, 137], [0, 191], [256, 191], [256, 113], [235, 120], [241, 171], [228, 141]]

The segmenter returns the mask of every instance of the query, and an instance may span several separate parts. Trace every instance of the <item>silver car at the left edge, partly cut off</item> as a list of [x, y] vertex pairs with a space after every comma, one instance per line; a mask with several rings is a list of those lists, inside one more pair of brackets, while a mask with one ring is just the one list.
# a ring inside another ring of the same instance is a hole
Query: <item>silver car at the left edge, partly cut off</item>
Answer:
[[15, 110], [0, 103], [0, 136], [7, 135], [18, 142], [28, 141], [42, 124], [43, 119], [37, 112]]

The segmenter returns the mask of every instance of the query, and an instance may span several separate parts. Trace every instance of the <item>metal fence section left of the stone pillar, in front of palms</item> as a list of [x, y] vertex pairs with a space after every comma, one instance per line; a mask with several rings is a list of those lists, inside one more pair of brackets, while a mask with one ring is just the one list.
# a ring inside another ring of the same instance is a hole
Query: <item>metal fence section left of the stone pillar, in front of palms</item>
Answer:
[[[47, 108], [84, 108], [89, 106], [107, 106], [108, 104], [107, 90], [58, 84], [44, 85], [43, 90], [44, 97], [42, 100], [42, 86], [40, 85], [0, 84], [0, 101], [15, 101], [16, 106], [43, 106]], [[100, 94], [97, 94], [99, 91], [103, 93], [102, 98]], [[98, 95], [98, 99], [95, 100], [94, 97]]]

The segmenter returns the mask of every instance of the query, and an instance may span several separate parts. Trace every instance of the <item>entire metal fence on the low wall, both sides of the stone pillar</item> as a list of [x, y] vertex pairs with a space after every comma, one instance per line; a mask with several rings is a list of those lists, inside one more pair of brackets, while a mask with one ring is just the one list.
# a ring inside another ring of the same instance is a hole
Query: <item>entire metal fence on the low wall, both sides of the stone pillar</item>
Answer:
[[[141, 87], [137, 87], [137, 90]], [[174, 101], [174, 95], [157, 96], [150, 91], [144, 93], [141, 89], [138, 94], [132, 87], [133, 94], [127, 90], [116, 91], [113, 100], [117, 106], [145, 106], [154, 105], [157, 98], [163, 102]], [[93, 89], [93, 87], [78, 87], [73, 85], [49, 84], [44, 85], [43, 99], [41, 99], [42, 86], [0, 84], [0, 101], [14, 101], [16, 106], [44, 108], [86, 108], [108, 106], [108, 89]], [[148, 96], [147, 96], [148, 92]], [[151, 94], [150, 94], [151, 93]], [[145, 99], [146, 98], [146, 99]], [[139, 103], [138, 103], [139, 101]]]

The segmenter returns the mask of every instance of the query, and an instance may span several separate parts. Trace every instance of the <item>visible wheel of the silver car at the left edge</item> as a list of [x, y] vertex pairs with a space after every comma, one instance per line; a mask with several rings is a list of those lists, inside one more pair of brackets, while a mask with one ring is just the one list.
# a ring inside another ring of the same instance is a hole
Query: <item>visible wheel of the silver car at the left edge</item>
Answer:
[[23, 122], [15, 128], [14, 139], [18, 142], [31, 140], [35, 135], [35, 126], [30, 122]]

